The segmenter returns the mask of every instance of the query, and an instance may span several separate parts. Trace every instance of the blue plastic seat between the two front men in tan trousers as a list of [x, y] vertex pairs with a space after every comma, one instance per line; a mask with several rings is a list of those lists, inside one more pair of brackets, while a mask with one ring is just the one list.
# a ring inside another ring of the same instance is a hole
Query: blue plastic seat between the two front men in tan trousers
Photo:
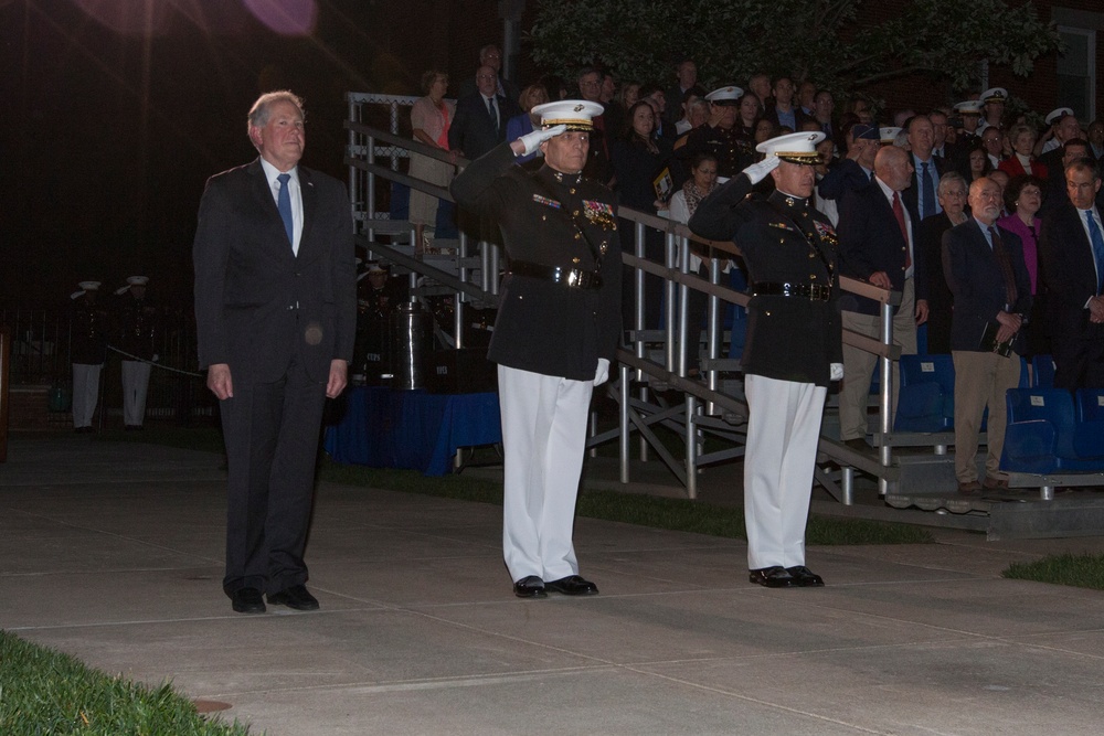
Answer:
[[947, 431], [955, 422], [955, 365], [951, 355], [902, 355], [895, 431]]

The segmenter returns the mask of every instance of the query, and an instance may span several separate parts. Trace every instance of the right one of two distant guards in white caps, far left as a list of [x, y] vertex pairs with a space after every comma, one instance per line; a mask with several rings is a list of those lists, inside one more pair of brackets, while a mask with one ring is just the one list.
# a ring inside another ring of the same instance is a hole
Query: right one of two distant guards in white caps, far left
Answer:
[[119, 350], [123, 351], [123, 424], [127, 431], [141, 429], [150, 365], [157, 362], [153, 349], [157, 310], [146, 298], [148, 284], [146, 276], [131, 276], [116, 291], [121, 298]]

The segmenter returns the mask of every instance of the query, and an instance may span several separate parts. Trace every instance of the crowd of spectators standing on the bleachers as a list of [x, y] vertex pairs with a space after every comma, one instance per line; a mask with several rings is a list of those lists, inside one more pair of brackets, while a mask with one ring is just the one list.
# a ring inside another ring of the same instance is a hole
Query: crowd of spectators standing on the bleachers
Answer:
[[[469, 109], [486, 109], [493, 93], [505, 94], [500, 67], [496, 66], [498, 57], [497, 47], [481, 51], [481, 65], [474, 79], [477, 89], [468, 96], [481, 94], [478, 82], [482, 76], [484, 98], [478, 100], [478, 108], [473, 105]], [[497, 89], [491, 88], [492, 72]], [[686, 211], [692, 210], [712, 188], [712, 181], [703, 172], [723, 181], [762, 159], [763, 154], [755, 150], [758, 143], [788, 132], [818, 131], [825, 134], [825, 140], [818, 147], [824, 162], [817, 167], [815, 206], [846, 239], [846, 233], [853, 228], [847, 222], [843, 203], [857, 190], [874, 182], [874, 162], [882, 149], [888, 146], [903, 149], [907, 177], [902, 173], [900, 196], [916, 222], [915, 231], [906, 230], [910, 280], [915, 282], [916, 294], [927, 295], [925, 303], [917, 305], [917, 313], [906, 319], [919, 323], [928, 320], [921, 332], [921, 351], [951, 352], [953, 297], [943, 268], [944, 235], [972, 216], [967, 204], [970, 185], [981, 179], [994, 181], [1002, 198], [996, 225], [1022, 241], [1031, 280], [1033, 307], [1030, 314], [1023, 316], [1027, 338], [1023, 350], [1029, 358], [1063, 353], [1061, 348], [1055, 350], [1052, 341], [1055, 334], [1065, 334], [1068, 326], [1055, 326], [1060, 312], [1050, 308], [1048, 295], [1061, 285], [1045, 273], [1049, 259], [1044, 253], [1045, 230], [1051, 215], [1075, 204], [1072, 184], [1066, 181], [1071, 164], [1085, 164], [1090, 189], [1095, 186], [1092, 196], [1082, 198], [1082, 204], [1098, 203], [1100, 168], [1104, 163], [1101, 120], [1082, 128], [1073, 110], [1065, 107], [1045, 117], [1036, 113], [1013, 114], [1009, 111], [1006, 90], [1000, 88], [923, 110], [877, 110], [872, 100], [862, 95], [837, 100], [831, 90], [819, 88], [814, 81], [771, 78], [766, 74], [754, 74], [745, 83], [707, 89], [698, 81], [694, 61], [682, 60], [672, 67], [669, 79], [617, 79], [608, 72], [587, 67], [580, 71], [573, 83], [530, 85], [519, 96], [505, 100], [521, 113], [509, 120], [498, 140], [528, 132], [532, 126], [528, 110], [549, 98], [580, 98], [603, 105], [604, 113], [595, 119], [591, 137], [586, 175], [611, 186], [622, 206], [673, 218], [687, 216]], [[457, 105], [458, 118], [463, 102], [461, 98]], [[449, 138], [455, 136], [450, 134]], [[464, 150], [469, 158], [473, 152]], [[764, 186], [771, 186], [769, 178], [760, 184], [761, 189]], [[1089, 223], [1100, 225], [1098, 210], [1093, 207], [1089, 220], [1081, 217], [1085, 242], [1095, 248], [1094, 238], [1100, 236], [1094, 235]], [[627, 223], [623, 221], [623, 225]], [[1054, 239], [1052, 236], [1049, 247], [1066, 247]], [[857, 255], [861, 247], [841, 243], [845, 260], [848, 253], [852, 259], [861, 259]], [[630, 250], [631, 245], [626, 249]], [[1095, 249], [1090, 252], [1094, 257], [1093, 268], [1104, 276], [1104, 246], [1098, 256]], [[645, 255], [661, 258], [658, 231], [648, 231]], [[850, 273], [860, 278], [868, 276], [854, 269]], [[648, 281], [646, 321], [658, 327], [661, 312], [656, 295], [660, 282], [656, 277]], [[1104, 319], [1097, 319], [1097, 312], [1104, 318], [1104, 299], [1098, 288], [1091, 296], [1082, 305], [1080, 318], [1084, 324], [1079, 328], [1078, 342], [1082, 353], [1090, 352], [1087, 358], [1081, 354], [1078, 360], [1097, 364], [1104, 361], [1101, 324]], [[1094, 300], [1100, 300], [1098, 308]], [[630, 301], [626, 299], [626, 316]], [[1072, 312], [1061, 314], [1065, 316], [1062, 319], [1069, 319]], [[1091, 335], [1091, 344], [1086, 344], [1085, 335]], [[1086, 385], [1089, 381], [1085, 372], [1080, 371], [1070, 387]]]

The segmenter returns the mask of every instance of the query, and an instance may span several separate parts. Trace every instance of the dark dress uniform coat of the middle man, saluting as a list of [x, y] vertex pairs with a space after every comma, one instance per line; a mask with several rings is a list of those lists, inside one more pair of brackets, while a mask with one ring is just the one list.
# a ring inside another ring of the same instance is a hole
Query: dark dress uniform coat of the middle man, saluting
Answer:
[[602, 286], [569, 288], [508, 273], [487, 356], [512, 369], [592, 381], [598, 359], [613, 362], [620, 342], [614, 194], [580, 174], [548, 166], [529, 172], [513, 163], [509, 143], [473, 161], [453, 180], [456, 202], [498, 222], [511, 260], [597, 271]]

